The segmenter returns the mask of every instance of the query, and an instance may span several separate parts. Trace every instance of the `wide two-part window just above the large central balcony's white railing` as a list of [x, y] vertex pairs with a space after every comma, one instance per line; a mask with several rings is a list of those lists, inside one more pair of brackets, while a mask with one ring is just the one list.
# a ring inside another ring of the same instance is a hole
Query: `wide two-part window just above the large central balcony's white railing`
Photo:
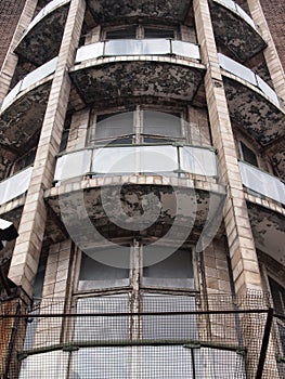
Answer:
[[184, 139], [180, 113], [144, 109], [95, 115], [89, 133], [90, 143], [140, 144]]

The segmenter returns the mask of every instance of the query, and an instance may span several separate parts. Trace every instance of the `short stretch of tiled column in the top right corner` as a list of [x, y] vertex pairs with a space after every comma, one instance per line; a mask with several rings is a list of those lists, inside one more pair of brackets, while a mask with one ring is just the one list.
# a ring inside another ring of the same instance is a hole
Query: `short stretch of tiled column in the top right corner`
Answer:
[[259, 0], [247, 0], [251, 17], [268, 43], [264, 57], [277, 95], [285, 101], [285, 74]]

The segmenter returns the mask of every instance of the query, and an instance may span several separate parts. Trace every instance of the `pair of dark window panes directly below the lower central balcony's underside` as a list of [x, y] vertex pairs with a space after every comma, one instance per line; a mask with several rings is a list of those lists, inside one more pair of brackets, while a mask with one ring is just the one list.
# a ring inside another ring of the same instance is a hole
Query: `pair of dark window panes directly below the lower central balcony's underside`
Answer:
[[[157, 260], [161, 257], [161, 260], [143, 269], [140, 266], [142, 262], [142, 265], [147, 264], [150, 259], [153, 262], [154, 256]], [[126, 262], [125, 267], [116, 266], [116, 262], [120, 264], [122, 260]], [[115, 264], [107, 264], [112, 262]], [[137, 274], [129, 269], [130, 265]], [[180, 248], [173, 251], [170, 247], [163, 246], [151, 249], [144, 246], [129, 246], [124, 250], [114, 247], [96, 248], [91, 252], [81, 253], [79, 291], [135, 286], [135, 280], [143, 287], [193, 290], [195, 284], [192, 249]]]

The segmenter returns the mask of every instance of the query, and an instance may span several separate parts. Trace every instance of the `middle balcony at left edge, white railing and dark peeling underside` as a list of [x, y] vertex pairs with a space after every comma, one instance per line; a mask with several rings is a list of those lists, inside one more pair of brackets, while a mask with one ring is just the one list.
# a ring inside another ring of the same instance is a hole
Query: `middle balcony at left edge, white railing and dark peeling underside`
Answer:
[[0, 142], [20, 148], [42, 123], [57, 58], [28, 74], [5, 96], [0, 109]]

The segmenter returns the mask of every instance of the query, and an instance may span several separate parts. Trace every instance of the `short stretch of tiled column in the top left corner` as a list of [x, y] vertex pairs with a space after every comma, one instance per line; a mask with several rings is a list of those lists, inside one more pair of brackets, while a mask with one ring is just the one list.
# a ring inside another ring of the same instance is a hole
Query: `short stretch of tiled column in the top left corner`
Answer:
[[4, 96], [9, 92], [10, 83], [16, 68], [17, 55], [14, 53], [14, 49], [20, 42], [21, 37], [24, 34], [24, 30], [28, 27], [35, 14], [36, 5], [37, 5], [37, 1], [26, 0], [16, 30], [10, 43], [10, 48], [7, 52], [7, 55], [2, 65], [2, 69], [0, 73], [0, 103], [4, 100]]

